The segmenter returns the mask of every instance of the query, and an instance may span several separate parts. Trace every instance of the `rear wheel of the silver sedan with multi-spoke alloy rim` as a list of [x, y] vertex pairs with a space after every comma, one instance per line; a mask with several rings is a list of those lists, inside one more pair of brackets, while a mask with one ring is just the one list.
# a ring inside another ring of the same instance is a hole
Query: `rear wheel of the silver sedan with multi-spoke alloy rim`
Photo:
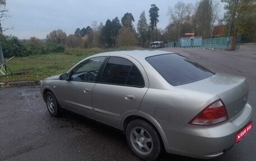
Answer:
[[156, 160], [161, 153], [161, 141], [156, 130], [146, 121], [135, 119], [126, 128], [129, 148], [136, 157], [143, 160]]

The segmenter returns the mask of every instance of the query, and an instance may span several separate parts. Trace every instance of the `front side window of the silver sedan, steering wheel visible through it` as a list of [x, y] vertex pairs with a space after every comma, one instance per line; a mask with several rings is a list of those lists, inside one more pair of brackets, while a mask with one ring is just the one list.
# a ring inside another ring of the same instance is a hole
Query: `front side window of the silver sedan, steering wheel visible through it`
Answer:
[[96, 57], [81, 62], [72, 70], [71, 80], [94, 82], [105, 59], [106, 57]]

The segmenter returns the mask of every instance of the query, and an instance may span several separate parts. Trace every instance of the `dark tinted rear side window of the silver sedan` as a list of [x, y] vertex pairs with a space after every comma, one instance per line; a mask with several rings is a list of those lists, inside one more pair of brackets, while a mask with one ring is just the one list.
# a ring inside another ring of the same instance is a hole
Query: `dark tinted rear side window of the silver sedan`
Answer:
[[143, 76], [134, 63], [125, 58], [111, 57], [100, 82], [116, 85], [144, 86]]

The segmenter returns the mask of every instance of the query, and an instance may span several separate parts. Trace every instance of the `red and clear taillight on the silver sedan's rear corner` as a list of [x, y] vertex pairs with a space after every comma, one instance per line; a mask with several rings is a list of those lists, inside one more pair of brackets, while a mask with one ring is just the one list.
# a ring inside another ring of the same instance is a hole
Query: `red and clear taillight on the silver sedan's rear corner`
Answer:
[[227, 110], [221, 99], [209, 104], [189, 123], [193, 125], [210, 126], [227, 120]]

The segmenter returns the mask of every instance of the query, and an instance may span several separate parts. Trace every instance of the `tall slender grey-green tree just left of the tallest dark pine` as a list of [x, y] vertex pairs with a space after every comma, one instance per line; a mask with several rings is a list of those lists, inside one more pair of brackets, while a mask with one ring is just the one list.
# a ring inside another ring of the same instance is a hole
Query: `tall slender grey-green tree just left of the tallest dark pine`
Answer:
[[145, 47], [143, 44], [148, 40], [147, 38], [148, 24], [147, 24], [145, 11], [143, 11], [140, 14], [140, 19], [137, 24], [137, 30], [140, 37], [140, 47]]

